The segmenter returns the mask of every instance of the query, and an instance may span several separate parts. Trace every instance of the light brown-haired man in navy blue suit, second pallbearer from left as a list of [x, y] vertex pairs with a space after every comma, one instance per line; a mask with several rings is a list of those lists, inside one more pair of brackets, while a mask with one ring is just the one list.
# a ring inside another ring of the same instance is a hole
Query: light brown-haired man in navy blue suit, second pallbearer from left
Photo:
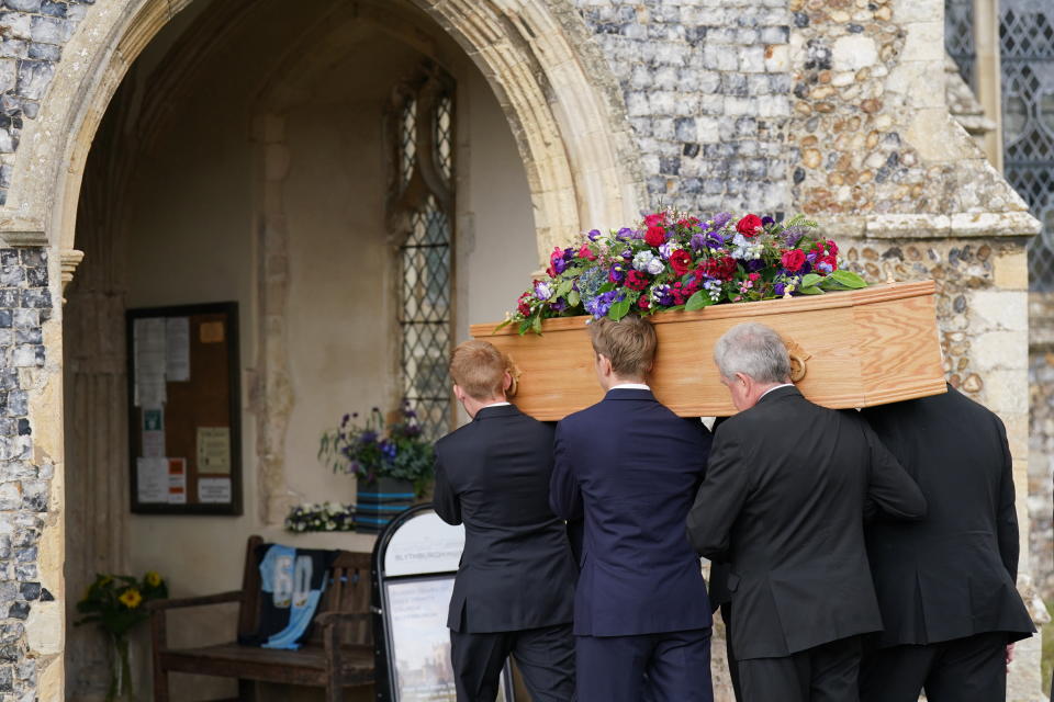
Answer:
[[574, 602], [580, 702], [713, 699], [710, 607], [684, 518], [709, 433], [644, 384], [655, 331], [636, 316], [590, 326], [604, 399], [557, 427], [551, 503], [584, 518]]

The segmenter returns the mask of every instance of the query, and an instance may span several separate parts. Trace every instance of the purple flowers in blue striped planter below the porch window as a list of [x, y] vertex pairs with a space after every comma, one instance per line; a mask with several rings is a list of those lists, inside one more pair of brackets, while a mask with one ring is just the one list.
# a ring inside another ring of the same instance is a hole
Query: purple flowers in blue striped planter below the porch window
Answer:
[[356, 529], [378, 532], [425, 492], [435, 451], [408, 401], [391, 421], [377, 407], [361, 426], [356, 419], [358, 412], [345, 415], [323, 433], [318, 458], [334, 473], [356, 476]]

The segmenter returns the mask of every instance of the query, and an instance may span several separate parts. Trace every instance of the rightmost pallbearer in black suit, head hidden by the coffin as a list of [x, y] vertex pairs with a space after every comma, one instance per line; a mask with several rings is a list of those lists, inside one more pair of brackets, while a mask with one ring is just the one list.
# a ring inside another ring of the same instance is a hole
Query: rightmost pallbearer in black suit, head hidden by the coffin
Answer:
[[944, 395], [865, 409], [929, 505], [910, 528], [876, 520], [867, 555], [885, 631], [864, 656], [861, 699], [1006, 700], [1008, 645], [1032, 634], [1014, 587], [1018, 518], [1002, 422], [949, 386]]

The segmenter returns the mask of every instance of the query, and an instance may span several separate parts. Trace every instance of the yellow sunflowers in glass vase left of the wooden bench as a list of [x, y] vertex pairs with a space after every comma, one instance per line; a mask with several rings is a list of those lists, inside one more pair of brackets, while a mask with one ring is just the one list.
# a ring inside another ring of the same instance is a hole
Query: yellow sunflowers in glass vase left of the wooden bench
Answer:
[[142, 580], [128, 575], [98, 575], [77, 602], [83, 616], [77, 625], [96, 623], [113, 645], [113, 668], [106, 700], [132, 700], [132, 668], [128, 661], [128, 632], [149, 619], [143, 607], [150, 600], [168, 597], [165, 579], [148, 571]]

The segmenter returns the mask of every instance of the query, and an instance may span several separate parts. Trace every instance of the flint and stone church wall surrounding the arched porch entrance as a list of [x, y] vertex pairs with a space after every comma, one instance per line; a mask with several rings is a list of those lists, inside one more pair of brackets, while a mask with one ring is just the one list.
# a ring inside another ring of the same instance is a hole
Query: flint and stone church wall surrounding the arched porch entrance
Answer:
[[[455, 26], [449, 14], [440, 24], [468, 43], [497, 36], [495, 45], [485, 47], [491, 53], [534, 42], [536, 55], [571, 44], [582, 65], [599, 57], [606, 70], [591, 75], [618, 106], [612, 120], [628, 123], [639, 158], [641, 172], [627, 179], [644, 184], [637, 205], [704, 212], [805, 210], [843, 244], [849, 264], [872, 279], [934, 278], [949, 374], [1008, 424], [1022, 539], [1028, 543], [1023, 245], [1035, 222], [949, 118], [943, 90], [934, 84], [943, 78], [940, 0], [474, 3], [507, 23], [480, 31], [469, 26], [475, 16], [467, 10], [466, 25]], [[0, 235], [9, 246], [26, 247], [0, 250], [0, 395], [5, 400], [0, 410], [0, 563], [5, 569], [0, 578], [0, 700], [59, 700], [63, 677], [61, 313], [53, 305], [58, 303], [60, 265], [72, 258], [63, 253], [49, 229], [53, 215], [44, 214], [60, 206], [49, 200], [54, 189], [37, 181], [67, 163], [55, 158], [20, 160], [18, 150], [21, 144], [23, 154], [47, 154], [38, 145], [61, 136], [56, 129], [74, 128], [74, 122], [38, 120], [48, 101], [66, 104], [75, 99], [74, 90], [49, 92], [59, 84], [53, 77], [76, 75], [115, 50], [119, 42], [134, 56], [137, 47], [125, 44], [127, 37], [106, 32], [146, 4], [4, 0], [0, 12]], [[164, 12], [171, 13], [184, 3], [164, 4]], [[416, 4], [437, 18], [442, 12], [434, 2]], [[156, 15], [158, 22], [164, 23], [164, 12]], [[538, 16], [559, 18], [560, 26], [547, 30], [554, 36], [513, 36], [516, 27]], [[67, 50], [70, 46], [76, 52]], [[548, 87], [561, 87], [551, 67], [531, 65], [523, 72], [546, 73]], [[503, 106], [519, 97], [509, 76], [484, 73], [492, 84], [504, 86], [505, 94], [498, 94]], [[528, 83], [527, 78], [523, 81]], [[89, 83], [70, 79], [61, 84], [97, 90]], [[538, 101], [538, 110], [564, 109], [557, 94], [568, 93], [546, 93], [556, 104]], [[579, 114], [575, 106], [570, 111]], [[525, 143], [559, 145], [558, 122], [532, 123], [550, 125], [553, 132], [526, 136], [517, 132], [526, 127], [514, 125], [520, 155]], [[604, 126], [615, 134], [626, 128], [621, 123]], [[529, 165], [531, 186], [537, 169], [547, 166]], [[573, 189], [571, 176], [560, 181], [561, 192]], [[31, 181], [33, 188], [20, 185]], [[23, 192], [25, 202], [8, 202], [5, 193], [13, 201]], [[41, 202], [33, 201], [38, 193], [45, 193]], [[592, 195], [578, 196], [584, 201]], [[535, 201], [536, 207], [538, 202], [545, 197]], [[549, 231], [554, 224], [536, 226]], [[10, 328], [3, 326], [8, 312]], [[1033, 361], [1032, 372], [1042, 381], [1049, 370]], [[1032, 421], [1034, 426], [1046, 419], [1038, 414]], [[1033, 444], [1033, 461], [1038, 454], [1049, 455], [1046, 450]], [[1041, 532], [1049, 529], [1042, 522], [1039, 526]], [[1028, 576], [1040, 564], [1024, 558], [1022, 565]], [[1028, 577], [1024, 580], [1028, 590]], [[1041, 619], [1038, 610], [1036, 616]], [[1033, 639], [1020, 647], [1012, 700], [1038, 699], [1036, 673]]]

